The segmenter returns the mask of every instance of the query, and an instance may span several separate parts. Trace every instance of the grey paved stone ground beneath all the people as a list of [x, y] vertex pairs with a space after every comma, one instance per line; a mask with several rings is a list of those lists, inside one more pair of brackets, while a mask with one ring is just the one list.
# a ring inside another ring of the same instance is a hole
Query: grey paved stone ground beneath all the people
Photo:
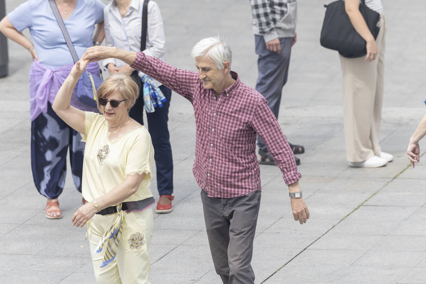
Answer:
[[[6, 0], [7, 11], [22, 2]], [[425, 112], [426, 1], [383, 1], [389, 31], [380, 139], [395, 158], [379, 169], [349, 168], [345, 161], [340, 62], [336, 52], [319, 44], [324, 3], [299, 1], [298, 43], [279, 116], [290, 140], [306, 148], [298, 168], [311, 218], [303, 226], [292, 220], [279, 169], [261, 166], [262, 205], [252, 261], [256, 283], [426, 283], [425, 166], [408, 168], [405, 155]], [[247, 0], [158, 4], [166, 61], [194, 70], [191, 47], [201, 38], [223, 34], [234, 52], [232, 69], [255, 85]], [[33, 185], [29, 158], [31, 57], [9, 41], [9, 58], [10, 76], [0, 79], [0, 282], [95, 283], [85, 230], [70, 222], [81, 201], [70, 175], [60, 196], [64, 218], [44, 218], [46, 199]], [[174, 94], [170, 135], [176, 199], [172, 213], [154, 216], [154, 284], [220, 283], [191, 170], [194, 129], [190, 103]], [[152, 192], [158, 198], [155, 181]]]

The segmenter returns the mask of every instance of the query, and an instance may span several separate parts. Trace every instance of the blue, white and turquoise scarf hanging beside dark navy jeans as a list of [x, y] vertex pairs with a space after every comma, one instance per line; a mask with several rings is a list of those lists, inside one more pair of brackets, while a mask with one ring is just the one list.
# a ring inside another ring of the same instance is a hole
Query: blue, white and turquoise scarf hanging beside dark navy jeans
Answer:
[[163, 92], [161, 92], [157, 81], [141, 71], [138, 71], [138, 75], [144, 83], [145, 110], [148, 113], [155, 112], [155, 107], [162, 107], [167, 99], [164, 97]]

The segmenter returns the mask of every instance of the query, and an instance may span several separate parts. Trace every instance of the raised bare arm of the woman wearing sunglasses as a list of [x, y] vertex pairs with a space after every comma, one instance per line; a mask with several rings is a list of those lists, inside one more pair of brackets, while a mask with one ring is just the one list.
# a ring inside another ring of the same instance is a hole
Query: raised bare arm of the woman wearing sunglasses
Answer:
[[53, 102], [52, 109], [56, 114], [65, 121], [66, 124], [71, 126], [75, 131], [84, 133], [84, 112], [80, 109], [71, 106], [72, 90], [78, 82], [78, 79], [86, 70], [89, 60], [78, 60], [72, 67], [66, 80], [63, 82], [58, 93], [56, 94], [55, 101]]

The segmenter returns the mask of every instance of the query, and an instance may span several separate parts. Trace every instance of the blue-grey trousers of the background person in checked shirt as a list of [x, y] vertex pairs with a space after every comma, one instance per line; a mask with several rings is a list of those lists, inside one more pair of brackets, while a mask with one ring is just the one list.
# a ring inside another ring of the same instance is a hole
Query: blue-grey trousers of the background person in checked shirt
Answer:
[[[256, 91], [266, 98], [269, 108], [275, 117], [278, 118], [282, 87], [287, 83], [293, 37], [279, 38], [281, 43], [280, 54], [267, 49], [262, 36], [255, 34], [254, 41], [256, 54], [259, 55], [257, 59], [258, 78]], [[259, 135], [257, 135], [257, 146], [262, 151], [267, 150], [265, 142]]]

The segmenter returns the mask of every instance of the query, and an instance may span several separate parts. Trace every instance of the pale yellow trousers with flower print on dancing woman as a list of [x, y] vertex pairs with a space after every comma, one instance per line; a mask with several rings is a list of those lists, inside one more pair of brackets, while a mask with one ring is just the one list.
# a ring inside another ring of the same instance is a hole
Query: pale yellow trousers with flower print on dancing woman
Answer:
[[[104, 232], [109, 229], [118, 213], [98, 215], [90, 220], [88, 235], [96, 281], [99, 284], [149, 284], [151, 272], [148, 247], [153, 235], [153, 210], [132, 211], [124, 214], [123, 233], [118, 244], [115, 259], [101, 268], [107, 246], [99, 253], [93, 253]], [[135, 236], [143, 235], [138, 245], [131, 244]]]

